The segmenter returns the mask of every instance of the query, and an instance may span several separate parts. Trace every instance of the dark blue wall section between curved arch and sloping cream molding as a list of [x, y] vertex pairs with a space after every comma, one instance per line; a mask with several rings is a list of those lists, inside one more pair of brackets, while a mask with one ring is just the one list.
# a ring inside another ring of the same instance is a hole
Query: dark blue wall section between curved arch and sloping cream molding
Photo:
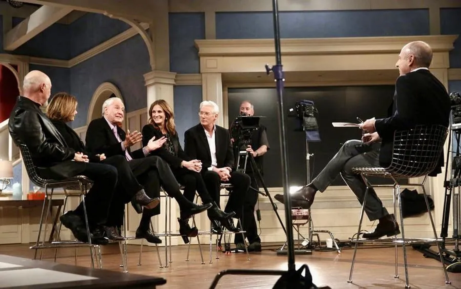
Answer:
[[102, 14], [83, 15], [69, 25], [71, 58], [130, 28], [129, 24]]

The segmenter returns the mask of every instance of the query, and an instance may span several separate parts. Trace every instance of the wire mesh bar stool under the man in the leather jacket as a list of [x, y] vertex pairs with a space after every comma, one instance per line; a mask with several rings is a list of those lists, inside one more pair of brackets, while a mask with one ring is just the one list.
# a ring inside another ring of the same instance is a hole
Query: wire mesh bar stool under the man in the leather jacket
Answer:
[[[75, 176], [73, 178], [68, 178], [64, 180], [43, 179], [38, 175], [37, 171], [35, 170], [35, 165], [32, 162], [32, 156], [30, 155], [29, 148], [24, 144], [20, 144], [19, 150], [21, 151], [21, 155], [23, 156], [23, 162], [26, 167], [26, 171], [27, 171], [27, 174], [29, 175], [30, 180], [35, 185], [45, 189], [45, 199], [43, 200], [43, 206], [41, 208], [40, 225], [38, 229], [37, 241], [35, 242], [35, 245], [30, 247], [30, 249], [35, 249], [34, 259], [37, 258], [38, 249], [54, 248], [55, 249], [54, 260], [56, 260], [58, 248], [76, 247], [75, 258], [77, 262], [77, 247], [87, 246], [90, 249], [91, 266], [95, 268], [94, 254], [98, 256], [96, 262], [98, 263], [99, 261], [99, 264], [97, 265], [101, 266], [102, 261], [101, 261], [100, 246], [92, 244], [90, 237], [88, 238], [88, 243], [80, 242], [78, 240], [61, 241], [59, 238], [61, 223], [59, 223], [59, 230], [58, 230], [56, 240], [55, 241], [49, 240], [49, 242], [47, 242], [48, 244], [46, 244], [45, 242], [46, 236], [47, 236], [48, 216], [50, 214], [51, 202], [53, 199], [53, 191], [54, 189], [57, 189], [57, 188], [62, 188], [65, 193], [63, 213], [65, 210], [65, 205], [66, 205], [68, 197], [70, 196], [81, 197], [86, 230], [87, 230], [88, 236], [90, 236], [89, 226], [88, 226], [88, 215], [87, 215], [87, 210], [86, 210], [86, 205], [85, 205], [85, 195], [88, 192], [89, 188], [91, 187], [91, 184], [92, 184], [91, 180], [85, 176]], [[48, 191], [48, 189], [51, 189], [51, 191]], [[45, 207], [47, 207], [46, 216], [45, 216]], [[59, 212], [57, 214], [59, 214]], [[40, 237], [41, 237], [41, 229], [43, 227], [43, 224], [45, 224], [45, 228], [43, 232], [43, 240], [41, 241]], [[42, 257], [42, 254], [43, 254], [43, 250], [41, 250], [40, 259]]]

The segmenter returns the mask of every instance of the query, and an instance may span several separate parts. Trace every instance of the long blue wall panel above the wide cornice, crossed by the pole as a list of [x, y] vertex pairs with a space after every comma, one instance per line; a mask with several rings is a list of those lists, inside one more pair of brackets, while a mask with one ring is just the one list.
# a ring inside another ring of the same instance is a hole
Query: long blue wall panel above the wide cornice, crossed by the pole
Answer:
[[[216, 38], [273, 38], [272, 23], [272, 12], [219, 12]], [[279, 25], [282, 38], [428, 35], [429, 10], [280, 12]]]

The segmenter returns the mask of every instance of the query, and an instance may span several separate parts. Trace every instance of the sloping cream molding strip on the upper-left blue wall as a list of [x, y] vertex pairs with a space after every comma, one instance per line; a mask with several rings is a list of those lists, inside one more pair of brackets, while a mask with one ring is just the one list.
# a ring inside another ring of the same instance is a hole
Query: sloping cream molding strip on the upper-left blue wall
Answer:
[[[148, 29], [149, 24], [141, 23], [140, 27], [142, 27], [142, 29]], [[101, 44], [91, 48], [90, 50], [88, 50], [86, 52], [83, 52], [82, 54], [72, 58], [71, 60], [69, 60], [68, 67], [70, 68], [70, 67], [73, 67], [73, 66], [75, 66], [75, 65], [77, 65], [79, 63], [82, 63], [83, 61], [88, 60], [89, 58], [92, 58], [92, 57], [98, 55], [99, 53], [104, 52], [107, 49], [109, 49], [109, 48], [111, 48], [113, 46], [116, 46], [116, 45], [122, 43], [125, 40], [130, 39], [131, 37], [133, 37], [133, 36], [135, 36], [137, 34], [138, 34], [138, 30], [136, 28], [127, 29], [127, 30], [125, 30], [124, 32], [122, 32], [120, 34], [115, 35], [111, 39], [106, 40], [106, 41], [102, 42]]]

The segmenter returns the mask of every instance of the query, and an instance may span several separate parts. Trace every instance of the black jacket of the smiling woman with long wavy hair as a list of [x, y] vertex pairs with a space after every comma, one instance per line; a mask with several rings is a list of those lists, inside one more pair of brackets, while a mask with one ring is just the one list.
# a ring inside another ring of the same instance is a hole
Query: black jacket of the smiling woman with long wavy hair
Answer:
[[[160, 139], [164, 134], [160, 131], [160, 129], [155, 128], [151, 124], [147, 124], [142, 127], [142, 146], [146, 146], [150, 139], [155, 137], [155, 139]], [[153, 156], [160, 156], [165, 162], [167, 162], [171, 168], [180, 168], [181, 162], [183, 161], [190, 161], [191, 158], [186, 155], [179, 143], [179, 137], [177, 136], [177, 131], [175, 134], [171, 136], [171, 141], [173, 143], [173, 147], [175, 150], [176, 155], [171, 154], [168, 150], [166, 150], [163, 146], [158, 148], [157, 150], [152, 151], [150, 154]]]

